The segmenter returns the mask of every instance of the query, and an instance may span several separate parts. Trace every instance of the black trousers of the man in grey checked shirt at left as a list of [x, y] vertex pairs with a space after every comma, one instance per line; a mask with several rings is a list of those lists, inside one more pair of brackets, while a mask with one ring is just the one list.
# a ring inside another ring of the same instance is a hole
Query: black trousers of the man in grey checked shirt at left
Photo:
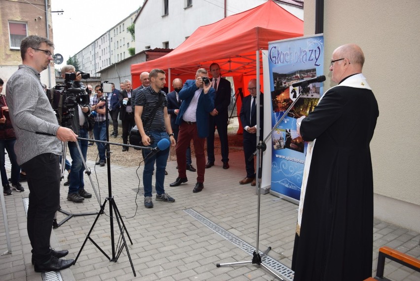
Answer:
[[28, 236], [36, 264], [51, 258], [50, 236], [60, 204], [59, 156], [44, 153], [23, 163], [28, 178]]

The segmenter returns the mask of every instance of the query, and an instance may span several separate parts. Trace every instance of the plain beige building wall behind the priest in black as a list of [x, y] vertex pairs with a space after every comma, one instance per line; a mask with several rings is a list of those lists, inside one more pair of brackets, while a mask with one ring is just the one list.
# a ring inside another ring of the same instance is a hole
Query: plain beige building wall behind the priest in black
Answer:
[[[305, 35], [315, 34], [315, 0], [305, 1]], [[375, 217], [420, 232], [420, 1], [324, 0], [325, 69], [334, 49], [356, 43], [379, 104], [371, 142]], [[363, 114], [355, 112], [355, 114]]]

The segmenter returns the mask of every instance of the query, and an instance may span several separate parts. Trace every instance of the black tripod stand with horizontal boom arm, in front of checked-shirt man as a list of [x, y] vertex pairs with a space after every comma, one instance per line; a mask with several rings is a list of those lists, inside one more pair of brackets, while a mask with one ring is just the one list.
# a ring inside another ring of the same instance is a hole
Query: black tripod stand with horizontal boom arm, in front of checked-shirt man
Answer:
[[[90, 234], [93, 231], [93, 228], [95, 227], [96, 222], [99, 219], [99, 216], [101, 212], [96, 216], [95, 221], [93, 222], [92, 227], [90, 228], [90, 231], [88, 235], [86, 236], [85, 241], [82, 244], [82, 247], [79, 250], [79, 253], [77, 254], [76, 258], [74, 259], [74, 263], [76, 263], [77, 259], [79, 258], [80, 253], [83, 250], [83, 247], [85, 246], [87, 240], [89, 239], [104, 255], [109, 261], [116, 262], [122, 252], [122, 250], [125, 248], [127, 251], [128, 259], [130, 260], [131, 269], [133, 270], [134, 276], [136, 276], [136, 271], [134, 270], [133, 261], [131, 260], [130, 252], [128, 250], [127, 241], [124, 236], [124, 232], [127, 234], [128, 239], [130, 240], [130, 243], [133, 245], [133, 241], [131, 241], [130, 235], [128, 234], [127, 228], [125, 227], [124, 221], [122, 220], [121, 214], [118, 210], [117, 204], [115, 203], [114, 197], [112, 196], [112, 187], [111, 187], [111, 164], [110, 164], [110, 150], [109, 145], [119, 145], [119, 146], [126, 146], [126, 147], [134, 147], [134, 148], [140, 148], [140, 149], [149, 149], [147, 147], [139, 147], [134, 145], [126, 145], [126, 144], [120, 144], [120, 143], [110, 143], [109, 142], [109, 131], [108, 131], [108, 98], [105, 95], [105, 115], [106, 115], [106, 141], [100, 141], [100, 140], [94, 140], [95, 142], [103, 143], [105, 145], [105, 151], [106, 151], [106, 167], [107, 167], [107, 176], [108, 176], [108, 197], [105, 199], [104, 203], [101, 206], [101, 211], [105, 210], [106, 202], [109, 202], [109, 225], [110, 225], [110, 233], [111, 233], [111, 254], [112, 257], [109, 257], [105, 251], [90, 237]], [[80, 140], [89, 140], [85, 138], [77, 138]], [[113, 214], [115, 213], [115, 217]], [[114, 218], [116, 219], [118, 223], [118, 228], [120, 230], [120, 239], [118, 239], [117, 244], [115, 244], [114, 240]], [[117, 248], [117, 250], [115, 250]]]

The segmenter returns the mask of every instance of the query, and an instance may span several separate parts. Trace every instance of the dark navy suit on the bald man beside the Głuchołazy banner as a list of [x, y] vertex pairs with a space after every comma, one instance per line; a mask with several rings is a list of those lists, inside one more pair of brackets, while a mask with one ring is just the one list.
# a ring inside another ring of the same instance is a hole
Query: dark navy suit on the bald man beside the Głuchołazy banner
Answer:
[[[260, 94], [260, 140], [263, 139], [263, 123], [264, 123], [264, 107], [263, 107], [264, 95]], [[244, 155], [245, 155], [245, 169], [247, 178], [255, 178], [254, 159], [249, 161], [251, 155], [257, 149], [257, 134], [248, 133], [245, 130], [246, 126], [253, 127], [257, 124], [257, 112], [253, 112], [251, 115], [251, 102], [252, 96], [246, 96], [242, 101], [240, 118], [242, 126], [244, 127]], [[255, 105], [256, 105], [255, 99]]]

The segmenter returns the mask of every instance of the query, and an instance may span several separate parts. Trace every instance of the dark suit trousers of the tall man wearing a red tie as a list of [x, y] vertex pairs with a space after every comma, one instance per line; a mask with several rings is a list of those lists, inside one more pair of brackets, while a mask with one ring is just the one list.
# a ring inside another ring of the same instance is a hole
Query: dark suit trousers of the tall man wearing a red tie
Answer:
[[227, 116], [209, 114], [209, 136], [207, 137], [207, 160], [214, 162], [214, 132], [219, 133], [222, 162], [229, 161], [229, 143], [227, 139]]

